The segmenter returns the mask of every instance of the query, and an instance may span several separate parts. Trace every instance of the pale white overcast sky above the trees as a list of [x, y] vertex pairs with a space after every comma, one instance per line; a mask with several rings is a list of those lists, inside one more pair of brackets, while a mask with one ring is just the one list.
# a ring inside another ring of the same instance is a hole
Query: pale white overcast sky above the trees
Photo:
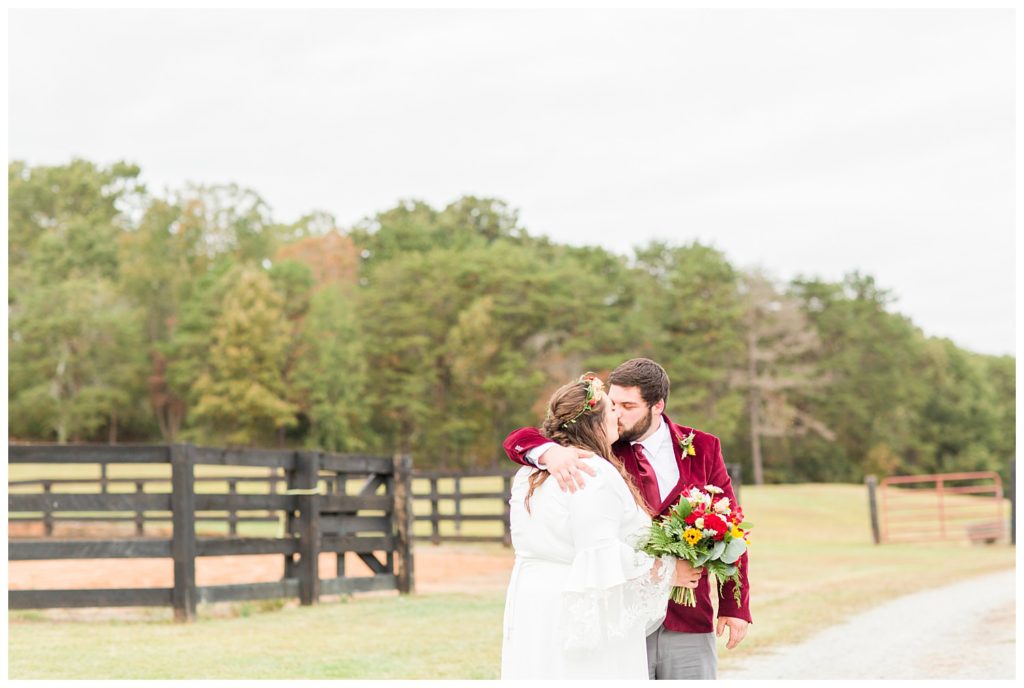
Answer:
[[1015, 352], [1011, 10], [12, 10], [9, 158], [237, 182], [341, 226], [498, 197], [628, 254], [860, 270]]

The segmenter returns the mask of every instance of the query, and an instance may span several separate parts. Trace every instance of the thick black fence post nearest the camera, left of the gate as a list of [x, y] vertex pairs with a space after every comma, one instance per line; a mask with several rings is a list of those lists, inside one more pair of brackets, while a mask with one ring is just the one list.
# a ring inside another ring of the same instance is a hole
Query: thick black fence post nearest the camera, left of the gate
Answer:
[[171, 445], [175, 621], [196, 619], [196, 471], [191, 444]]

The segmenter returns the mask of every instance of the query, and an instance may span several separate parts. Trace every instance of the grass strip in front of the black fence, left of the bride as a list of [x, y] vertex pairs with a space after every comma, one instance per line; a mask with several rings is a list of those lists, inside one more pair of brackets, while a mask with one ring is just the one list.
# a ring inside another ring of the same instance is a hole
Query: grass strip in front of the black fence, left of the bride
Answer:
[[[12, 620], [11, 679], [496, 679], [504, 597], [364, 597], [237, 618]], [[12, 617], [13, 617], [12, 613]]]

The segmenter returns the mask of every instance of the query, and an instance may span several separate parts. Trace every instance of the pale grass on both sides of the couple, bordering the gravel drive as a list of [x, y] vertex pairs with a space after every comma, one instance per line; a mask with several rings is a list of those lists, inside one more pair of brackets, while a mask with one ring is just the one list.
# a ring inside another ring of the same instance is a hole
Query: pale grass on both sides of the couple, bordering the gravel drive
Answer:
[[[721, 640], [723, 669], [887, 599], [1014, 566], [1007, 545], [872, 545], [860, 485], [746, 486], [742, 498], [756, 525], [755, 624], [736, 649]], [[504, 591], [490, 589], [305, 608], [253, 603], [226, 617], [201, 606], [193, 625], [170, 622], [166, 610], [133, 621], [8, 612], [8, 672], [12, 679], [497, 678], [503, 606]]]

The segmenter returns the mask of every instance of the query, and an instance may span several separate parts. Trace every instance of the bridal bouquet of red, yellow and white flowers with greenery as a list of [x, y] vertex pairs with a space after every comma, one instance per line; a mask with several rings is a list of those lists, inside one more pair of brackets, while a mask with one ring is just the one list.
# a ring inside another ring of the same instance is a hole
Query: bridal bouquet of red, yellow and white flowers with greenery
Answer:
[[[752, 523], [743, 520], [743, 510], [722, 497], [715, 485], [690, 487], [679, 504], [660, 520], [651, 523], [650, 533], [639, 549], [654, 557], [667, 554], [685, 559], [694, 568], [703, 566], [718, 578], [719, 593], [726, 580], [735, 584], [733, 596], [740, 602], [739, 568], [736, 562], [746, 551]], [[696, 598], [689, 588], [673, 588], [672, 599], [694, 607]]]

